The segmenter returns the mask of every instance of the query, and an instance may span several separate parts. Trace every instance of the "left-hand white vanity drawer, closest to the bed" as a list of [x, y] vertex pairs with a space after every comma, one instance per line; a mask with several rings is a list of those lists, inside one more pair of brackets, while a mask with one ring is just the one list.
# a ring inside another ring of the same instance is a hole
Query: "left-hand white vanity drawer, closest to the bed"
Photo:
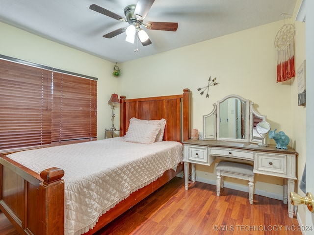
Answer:
[[208, 147], [184, 144], [183, 148], [184, 162], [209, 165]]

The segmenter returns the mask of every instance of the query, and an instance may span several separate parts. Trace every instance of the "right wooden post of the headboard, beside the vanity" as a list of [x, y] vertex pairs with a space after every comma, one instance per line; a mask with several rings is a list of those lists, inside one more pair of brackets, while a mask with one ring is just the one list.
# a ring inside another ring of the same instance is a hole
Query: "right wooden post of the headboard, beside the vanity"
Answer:
[[183, 89], [183, 140], [186, 141], [190, 138], [190, 102], [191, 92], [189, 89]]

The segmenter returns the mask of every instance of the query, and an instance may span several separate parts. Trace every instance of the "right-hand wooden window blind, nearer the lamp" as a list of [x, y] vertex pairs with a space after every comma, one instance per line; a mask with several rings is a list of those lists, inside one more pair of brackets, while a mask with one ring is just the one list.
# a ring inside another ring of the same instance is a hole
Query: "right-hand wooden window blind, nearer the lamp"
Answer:
[[97, 81], [53, 72], [52, 141], [97, 137]]

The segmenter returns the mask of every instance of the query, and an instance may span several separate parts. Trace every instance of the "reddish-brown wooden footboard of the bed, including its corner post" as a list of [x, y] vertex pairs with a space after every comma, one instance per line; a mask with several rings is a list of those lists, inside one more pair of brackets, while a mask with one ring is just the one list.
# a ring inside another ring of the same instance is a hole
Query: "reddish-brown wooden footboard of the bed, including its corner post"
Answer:
[[21, 235], [64, 233], [64, 171], [39, 174], [0, 154], [0, 210]]

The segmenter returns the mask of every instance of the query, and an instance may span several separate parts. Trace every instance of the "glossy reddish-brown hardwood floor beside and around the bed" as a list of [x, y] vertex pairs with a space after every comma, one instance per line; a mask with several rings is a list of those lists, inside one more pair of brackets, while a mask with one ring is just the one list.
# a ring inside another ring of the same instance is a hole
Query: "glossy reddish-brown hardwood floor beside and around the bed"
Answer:
[[[16, 235], [0, 213], [0, 234]], [[10, 225], [10, 224], [9, 224]], [[5, 227], [3, 227], [5, 226]], [[9, 232], [9, 230], [11, 232]], [[95, 235], [302, 235], [282, 201], [175, 177]]]

